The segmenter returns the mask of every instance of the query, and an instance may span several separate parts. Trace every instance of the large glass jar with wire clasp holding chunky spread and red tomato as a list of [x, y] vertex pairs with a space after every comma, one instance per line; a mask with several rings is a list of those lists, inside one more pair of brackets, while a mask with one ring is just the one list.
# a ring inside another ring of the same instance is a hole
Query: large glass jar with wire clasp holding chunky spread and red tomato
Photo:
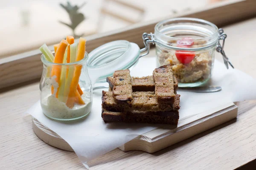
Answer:
[[196, 18], [164, 20], [157, 23], [154, 34], [143, 34], [148, 51], [149, 43], [156, 45], [158, 65], [172, 65], [179, 87], [204, 85], [210, 79], [215, 50], [222, 54], [227, 68], [228, 64], [233, 67], [223, 50], [226, 37], [213, 23]]

